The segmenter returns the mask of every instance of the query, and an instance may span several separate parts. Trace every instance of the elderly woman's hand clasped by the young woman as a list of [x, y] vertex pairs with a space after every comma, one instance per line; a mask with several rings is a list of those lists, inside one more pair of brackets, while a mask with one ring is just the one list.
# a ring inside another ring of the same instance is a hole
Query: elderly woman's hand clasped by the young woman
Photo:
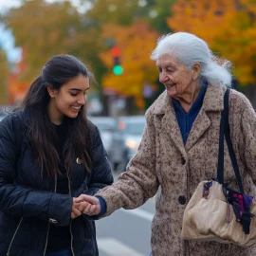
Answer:
[[101, 204], [97, 197], [81, 194], [76, 198], [76, 203], [80, 204], [78, 210], [87, 215], [98, 215], [101, 212]]

